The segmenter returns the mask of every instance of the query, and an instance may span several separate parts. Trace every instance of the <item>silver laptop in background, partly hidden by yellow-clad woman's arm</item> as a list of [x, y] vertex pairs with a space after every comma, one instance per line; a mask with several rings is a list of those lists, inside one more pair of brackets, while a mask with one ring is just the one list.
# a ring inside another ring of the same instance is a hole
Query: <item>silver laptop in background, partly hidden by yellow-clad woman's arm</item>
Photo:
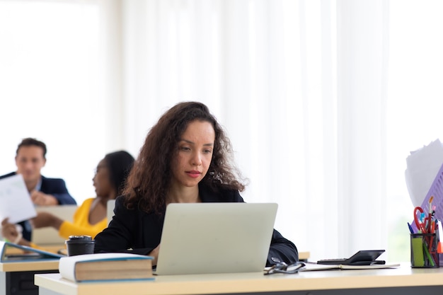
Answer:
[[[60, 219], [71, 221], [74, 218], [77, 205], [37, 206], [37, 212], [49, 212]], [[33, 229], [31, 240], [37, 245], [64, 245], [65, 238], [59, 236], [59, 231], [52, 227]]]

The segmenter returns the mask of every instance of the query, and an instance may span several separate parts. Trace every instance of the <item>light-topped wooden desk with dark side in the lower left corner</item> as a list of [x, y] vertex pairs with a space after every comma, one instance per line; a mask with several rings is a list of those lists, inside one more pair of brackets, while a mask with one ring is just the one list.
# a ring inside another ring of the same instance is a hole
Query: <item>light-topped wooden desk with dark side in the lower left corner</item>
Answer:
[[34, 275], [59, 272], [59, 260], [0, 262], [0, 295], [38, 295]]

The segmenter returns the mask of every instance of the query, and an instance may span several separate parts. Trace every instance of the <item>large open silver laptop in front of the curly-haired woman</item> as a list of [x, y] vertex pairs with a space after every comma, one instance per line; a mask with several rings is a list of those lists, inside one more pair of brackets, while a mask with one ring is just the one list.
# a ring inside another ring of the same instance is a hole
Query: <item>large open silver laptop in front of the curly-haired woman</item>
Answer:
[[262, 272], [276, 214], [275, 203], [169, 204], [155, 272]]

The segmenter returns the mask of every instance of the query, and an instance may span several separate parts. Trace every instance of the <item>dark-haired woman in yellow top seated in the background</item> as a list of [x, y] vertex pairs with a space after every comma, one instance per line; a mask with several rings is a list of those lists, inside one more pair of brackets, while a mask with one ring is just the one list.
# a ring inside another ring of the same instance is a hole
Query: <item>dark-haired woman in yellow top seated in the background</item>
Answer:
[[[132, 168], [134, 158], [127, 151], [115, 151], [107, 154], [97, 166], [93, 177], [96, 197], [86, 199], [74, 213], [73, 222], [59, 219], [48, 212], [40, 212], [30, 220], [34, 229], [52, 226], [59, 235], [68, 239], [69, 236], [87, 235], [95, 237], [108, 226], [106, 204], [115, 199], [125, 186], [126, 177]], [[8, 219], [1, 222], [1, 234], [8, 241], [38, 248], [38, 245], [25, 240]]]

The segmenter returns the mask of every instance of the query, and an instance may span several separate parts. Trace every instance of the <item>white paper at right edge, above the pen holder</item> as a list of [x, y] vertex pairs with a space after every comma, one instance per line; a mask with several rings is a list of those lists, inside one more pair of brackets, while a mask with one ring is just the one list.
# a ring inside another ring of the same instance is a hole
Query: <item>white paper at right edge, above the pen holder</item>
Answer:
[[414, 207], [422, 205], [442, 163], [443, 145], [439, 139], [417, 151], [411, 151], [406, 158], [406, 187]]

